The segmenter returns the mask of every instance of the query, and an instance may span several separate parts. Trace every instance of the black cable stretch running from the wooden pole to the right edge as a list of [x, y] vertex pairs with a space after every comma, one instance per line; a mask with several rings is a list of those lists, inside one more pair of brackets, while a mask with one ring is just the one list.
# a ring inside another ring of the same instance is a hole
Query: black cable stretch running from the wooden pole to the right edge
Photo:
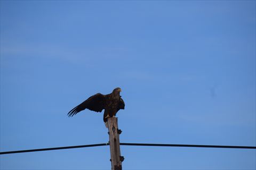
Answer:
[[151, 146], [151, 147], [197, 147], [197, 148], [236, 148], [236, 149], [256, 149], [249, 146], [219, 146], [219, 145], [179, 145], [179, 144], [154, 144], [154, 143], [120, 143], [126, 146]]

